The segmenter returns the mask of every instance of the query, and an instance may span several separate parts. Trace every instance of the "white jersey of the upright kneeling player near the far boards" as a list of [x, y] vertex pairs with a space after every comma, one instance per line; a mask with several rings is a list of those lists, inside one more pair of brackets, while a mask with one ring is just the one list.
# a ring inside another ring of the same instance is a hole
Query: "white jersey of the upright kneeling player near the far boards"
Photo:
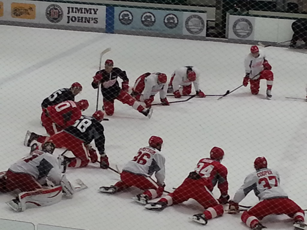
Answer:
[[[253, 78], [264, 69], [263, 62], [265, 60], [266, 56], [262, 51], [259, 51], [259, 56], [256, 58], [249, 53], [244, 60], [245, 73], [250, 73], [250, 78]], [[259, 77], [260, 75], [255, 77], [253, 80], [258, 79]]]

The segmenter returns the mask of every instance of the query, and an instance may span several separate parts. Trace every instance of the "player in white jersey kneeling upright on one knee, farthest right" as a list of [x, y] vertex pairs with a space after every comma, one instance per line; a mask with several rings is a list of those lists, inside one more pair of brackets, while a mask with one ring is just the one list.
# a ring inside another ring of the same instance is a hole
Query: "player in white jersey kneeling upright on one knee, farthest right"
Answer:
[[266, 98], [270, 100], [272, 98], [272, 86], [273, 86], [273, 72], [272, 67], [266, 60], [266, 56], [263, 52], [259, 52], [258, 46], [253, 45], [251, 52], [247, 55], [244, 61], [245, 65], [245, 77], [243, 78], [243, 86], [248, 85], [248, 81], [251, 84], [251, 93], [257, 95], [260, 88], [260, 80], [266, 79]]

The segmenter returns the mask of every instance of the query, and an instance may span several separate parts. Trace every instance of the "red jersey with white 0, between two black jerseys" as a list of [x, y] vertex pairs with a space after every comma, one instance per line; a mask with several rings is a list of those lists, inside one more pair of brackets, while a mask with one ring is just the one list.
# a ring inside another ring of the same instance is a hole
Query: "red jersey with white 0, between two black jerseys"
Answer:
[[47, 116], [61, 128], [67, 128], [73, 125], [81, 117], [81, 110], [73, 101], [61, 102], [57, 105], [49, 106], [46, 110]]

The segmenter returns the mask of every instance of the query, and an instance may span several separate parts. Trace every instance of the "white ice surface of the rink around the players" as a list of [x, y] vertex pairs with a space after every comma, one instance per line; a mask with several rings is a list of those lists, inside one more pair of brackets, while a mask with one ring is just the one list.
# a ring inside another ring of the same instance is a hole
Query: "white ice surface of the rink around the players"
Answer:
[[[0, 26], [0, 30], [1, 170], [7, 170], [29, 153], [29, 148], [23, 146], [28, 129], [45, 133], [40, 125], [40, 104], [54, 90], [80, 82], [83, 92], [76, 100], [89, 100], [90, 107], [84, 114], [95, 111], [96, 90], [91, 88], [91, 81], [98, 68], [99, 53], [107, 47], [112, 51], [103, 61], [114, 59], [115, 66], [126, 70], [130, 86], [145, 72], [160, 71], [170, 76], [178, 67], [194, 65], [202, 73], [200, 88], [206, 94], [224, 94], [242, 84], [243, 60], [250, 48], [220, 42], [13, 26]], [[223, 164], [229, 170], [231, 197], [253, 171], [254, 159], [265, 156], [269, 167], [280, 172], [282, 187], [289, 197], [307, 208], [307, 105], [304, 101], [285, 99], [305, 97], [307, 54], [287, 48], [263, 49], [274, 71], [271, 101], [264, 99], [265, 80], [261, 81], [257, 96], [251, 95], [248, 87], [242, 87], [219, 101], [193, 98], [169, 107], [156, 106], [150, 120], [116, 101], [115, 114], [108, 117], [110, 121], [103, 122], [111, 167], [117, 164], [122, 168], [151, 135], [159, 135], [165, 143], [165, 189], [171, 191], [200, 158], [207, 157], [213, 146], [219, 146], [225, 151]], [[169, 97], [169, 101], [173, 100]], [[101, 105], [100, 102], [99, 108]], [[119, 175], [102, 170], [97, 164], [68, 169], [67, 177], [80, 178], [89, 188], [78, 192], [72, 200], [23, 213], [14, 213], [5, 204], [12, 196], [2, 194], [0, 217], [92, 230], [248, 229], [239, 215], [224, 214], [205, 227], [192, 223], [188, 217], [203, 210], [193, 200], [155, 213], [130, 199], [137, 190], [99, 194], [99, 186], [114, 184]], [[217, 189], [214, 194], [220, 195]], [[242, 205], [256, 202], [256, 197], [249, 194]], [[283, 215], [266, 217], [263, 224], [270, 229], [293, 228], [291, 220]]]

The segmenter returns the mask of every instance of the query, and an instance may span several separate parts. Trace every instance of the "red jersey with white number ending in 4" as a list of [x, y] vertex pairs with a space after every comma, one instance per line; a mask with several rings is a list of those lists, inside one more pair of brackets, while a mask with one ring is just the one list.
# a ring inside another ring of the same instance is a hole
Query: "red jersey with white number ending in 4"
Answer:
[[200, 159], [197, 163], [194, 172], [200, 175], [204, 186], [212, 191], [213, 187], [219, 188], [222, 195], [228, 194], [228, 182], [227, 182], [227, 168], [220, 162], [212, 160], [210, 158]]

